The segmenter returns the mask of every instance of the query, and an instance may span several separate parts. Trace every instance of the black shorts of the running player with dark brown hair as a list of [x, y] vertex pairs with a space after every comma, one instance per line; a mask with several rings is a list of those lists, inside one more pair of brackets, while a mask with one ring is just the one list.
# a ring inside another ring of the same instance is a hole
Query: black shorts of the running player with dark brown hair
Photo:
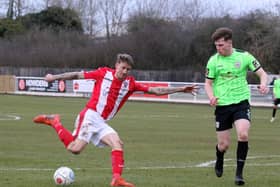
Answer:
[[217, 106], [215, 110], [216, 131], [231, 129], [233, 123], [238, 119], [251, 121], [251, 110], [248, 100], [238, 104]]

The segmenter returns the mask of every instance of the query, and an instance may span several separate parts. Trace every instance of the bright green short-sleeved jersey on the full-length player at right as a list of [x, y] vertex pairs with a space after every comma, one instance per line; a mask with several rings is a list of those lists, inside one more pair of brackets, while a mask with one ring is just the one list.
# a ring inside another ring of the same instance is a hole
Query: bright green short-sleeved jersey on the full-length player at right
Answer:
[[246, 51], [233, 49], [230, 56], [219, 53], [211, 56], [207, 63], [206, 78], [213, 80], [214, 96], [219, 106], [236, 104], [250, 99], [247, 72], [257, 71], [260, 63]]

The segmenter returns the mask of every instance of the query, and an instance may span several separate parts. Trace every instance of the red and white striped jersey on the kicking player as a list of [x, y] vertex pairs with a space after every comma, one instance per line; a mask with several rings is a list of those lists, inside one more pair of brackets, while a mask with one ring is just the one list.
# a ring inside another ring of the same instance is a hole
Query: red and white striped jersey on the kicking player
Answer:
[[120, 81], [115, 77], [115, 70], [107, 67], [84, 72], [84, 78], [95, 80], [86, 107], [98, 112], [104, 120], [112, 119], [134, 91], [147, 92], [149, 89], [137, 83], [133, 76]]

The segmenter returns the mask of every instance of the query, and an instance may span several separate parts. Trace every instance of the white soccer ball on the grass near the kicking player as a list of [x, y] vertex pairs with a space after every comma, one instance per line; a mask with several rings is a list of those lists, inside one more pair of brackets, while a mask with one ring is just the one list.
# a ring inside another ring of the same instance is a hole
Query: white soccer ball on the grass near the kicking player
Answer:
[[75, 174], [69, 167], [58, 168], [53, 175], [55, 184], [60, 186], [67, 186], [75, 181]]

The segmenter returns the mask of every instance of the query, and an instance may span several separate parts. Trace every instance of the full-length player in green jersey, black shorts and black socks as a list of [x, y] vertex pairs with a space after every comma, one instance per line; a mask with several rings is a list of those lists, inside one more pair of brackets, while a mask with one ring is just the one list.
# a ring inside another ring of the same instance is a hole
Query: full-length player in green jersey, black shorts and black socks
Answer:
[[216, 106], [216, 163], [217, 177], [223, 174], [224, 153], [230, 145], [230, 130], [237, 132], [236, 185], [244, 185], [243, 168], [248, 153], [250, 129], [250, 91], [246, 80], [249, 70], [260, 78], [261, 94], [268, 92], [267, 74], [250, 53], [233, 48], [232, 30], [218, 28], [211, 36], [217, 53], [207, 63], [205, 91], [211, 106]]

